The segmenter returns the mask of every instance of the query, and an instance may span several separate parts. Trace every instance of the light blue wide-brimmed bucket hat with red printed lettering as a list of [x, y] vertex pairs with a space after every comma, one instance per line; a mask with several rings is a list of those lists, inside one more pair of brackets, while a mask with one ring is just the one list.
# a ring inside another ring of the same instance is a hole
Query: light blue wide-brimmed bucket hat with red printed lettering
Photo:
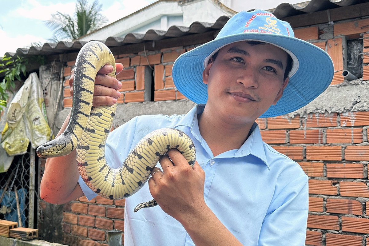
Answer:
[[225, 45], [246, 40], [273, 44], [289, 53], [293, 60], [283, 96], [261, 118], [293, 112], [310, 103], [330, 85], [334, 74], [333, 62], [323, 49], [295, 38], [292, 27], [272, 13], [254, 10], [235, 14], [214, 40], [176, 59], [172, 77], [180, 93], [194, 103], [206, 103], [207, 85], [203, 83], [202, 73], [208, 60]]

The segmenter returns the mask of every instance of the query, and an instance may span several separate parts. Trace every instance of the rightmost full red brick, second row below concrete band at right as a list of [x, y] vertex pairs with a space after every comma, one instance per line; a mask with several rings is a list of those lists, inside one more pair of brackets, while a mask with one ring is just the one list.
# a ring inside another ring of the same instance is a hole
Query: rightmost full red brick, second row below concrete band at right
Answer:
[[327, 143], [361, 143], [362, 132], [361, 128], [327, 129]]

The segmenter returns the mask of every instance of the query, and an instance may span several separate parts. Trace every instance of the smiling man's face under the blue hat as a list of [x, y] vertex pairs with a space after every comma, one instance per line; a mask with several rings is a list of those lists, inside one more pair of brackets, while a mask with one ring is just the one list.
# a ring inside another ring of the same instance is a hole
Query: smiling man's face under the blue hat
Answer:
[[207, 105], [227, 118], [254, 122], [282, 97], [287, 55], [271, 44], [224, 46], [203, 72]]

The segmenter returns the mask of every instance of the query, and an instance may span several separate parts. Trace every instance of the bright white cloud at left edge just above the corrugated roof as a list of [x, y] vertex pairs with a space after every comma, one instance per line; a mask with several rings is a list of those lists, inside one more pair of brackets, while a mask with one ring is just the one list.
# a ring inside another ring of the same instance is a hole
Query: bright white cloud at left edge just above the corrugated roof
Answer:
[[6, 52], [15, 52], [18, 48], [30, 46], [32, 42], [41, 41], [42, 44], [46, 42], [45, 39], [30, 34], [17, 35], [16, 37], [9, 37], [6, 32], [0, 30], [0, 56]]

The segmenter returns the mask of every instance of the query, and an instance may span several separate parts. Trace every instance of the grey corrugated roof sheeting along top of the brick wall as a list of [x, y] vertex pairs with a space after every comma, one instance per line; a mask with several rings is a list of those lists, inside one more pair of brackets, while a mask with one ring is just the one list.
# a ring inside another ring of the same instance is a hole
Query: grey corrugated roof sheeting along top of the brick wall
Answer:
[[[366, 3], [369, 0], [311, 0], [300, 4], [282, 3], [273, 12], [278, 18], [291, 17], [305, 13], [328, 10], [332, 8], [351, 6]], [[215, 23], [193, 22], [190, 27], [172, 26], [167, 31], [148, 30], [145, 34], [129, 33], [125, 37], [108, 37], [104, 42], [108, 47], [118, 47], [127, 44], [138, 44], [145, 41], [158, 41], [165, 38], [182, 37], [188, 34], [199, 34], [211, 30], [219, 30], [228, 21], [229, 17], [222, 16]], [[29, 49], [18, 48], [15, 53], [7, 55], [56, 55], [61, 53], [77, 52], [85, 41], [45, 43], [42, 47], [32, 46]]]

